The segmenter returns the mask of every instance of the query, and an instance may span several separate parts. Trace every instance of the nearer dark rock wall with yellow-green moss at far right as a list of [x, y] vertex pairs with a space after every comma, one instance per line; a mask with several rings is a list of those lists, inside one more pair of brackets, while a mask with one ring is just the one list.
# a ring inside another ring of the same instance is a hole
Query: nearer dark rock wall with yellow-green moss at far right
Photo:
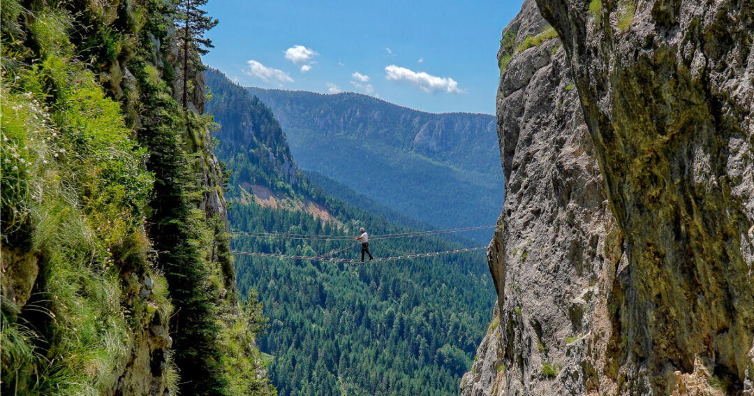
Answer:
[[599, 391], [754, 376], [754, 4], [538, 0], [562, 37], [627, 263]]

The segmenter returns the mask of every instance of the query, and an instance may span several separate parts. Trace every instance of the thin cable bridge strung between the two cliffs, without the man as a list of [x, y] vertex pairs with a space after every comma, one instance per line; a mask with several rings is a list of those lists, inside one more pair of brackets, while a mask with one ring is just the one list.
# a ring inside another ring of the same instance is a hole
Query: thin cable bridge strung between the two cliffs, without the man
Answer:
[[[422, 236], [440, 235], [440, 234], [448, 234], [451, 232], [464, 232], [464, 231], [471, 231], [471, 230], [477, 230], [477, 229], [491, 229], [494, 227], [496, 226], [477, 226], [477, 227], [464, 227], [460, 229], [436, 229], [436, 230], [418, 231], [418, 232], [402, 232], [398, 234], [370, 235], [369, 242], [386, 240], [386, 239], [415, 238], [415, 237], [422, 237]], [[250, 238], [308, 239], [308, 240], [320, 240], [320, 241], [353, 241], [354, 240], [354, 237], [344, 236], [344, 235], [302, 235], [302, 234], [288, 234], [288, 233], [276, 233], [276, 232], [233, 232], [232, 234], [235, 236], [250, 237]], [[273, 257], [277, 259], [302, 259], [302, 260], [329, 261], [329, 262], [361, 262], [360, 259], [343, 259], [339, 257], [334, 257], [336, 254], [342, 253], [345, 250], [351, 249], [353, 247], [354, 245], [348, 244], [348, 246], [340, 250], [333, 250], [332, 252], [320, 254], [317, 256], [296, 256], [296, 255], [291, 255], [291, 254], [242, 252], [238, 250], [233, 250], [231, 251], [231, 253], [241, 254], [244, 256]], [[384, 247], [384, 248], [385, 250], [390, 250], [391, 252], [398, 253], [400, 254], [400, 256], [378, 257], [369, 261], [385, 262], [385, 261], [394, 261], [394, 260], [402, 260], [402, 259], [416, 259], [420, 257], [434, 257], [434, 256], [442, 256], [445, 254], [465, 253], [465, 252], [471, 252], [475, 250], [484, 250], [487, 247], [486, 246], [465, 247], [463, 249], [445, 250], [442, 252], [430, 252], [430, 253], [408, 253], [408, 252], [402, 252], [400, 250], [393, 250], [388, 247]]]

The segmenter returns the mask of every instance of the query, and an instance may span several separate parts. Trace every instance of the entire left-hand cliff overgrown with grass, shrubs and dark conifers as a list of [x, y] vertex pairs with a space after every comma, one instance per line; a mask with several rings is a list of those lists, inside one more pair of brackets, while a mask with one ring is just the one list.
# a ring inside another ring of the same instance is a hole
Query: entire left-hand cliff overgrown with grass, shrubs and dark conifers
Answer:
[[202, 4], [0, 5], [2, 394], [274, 394], [201, 114]]

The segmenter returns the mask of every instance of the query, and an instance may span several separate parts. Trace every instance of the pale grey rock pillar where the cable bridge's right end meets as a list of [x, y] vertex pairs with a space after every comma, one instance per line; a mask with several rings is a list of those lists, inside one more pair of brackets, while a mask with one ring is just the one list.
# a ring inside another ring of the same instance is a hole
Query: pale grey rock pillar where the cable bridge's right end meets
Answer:
[[489, 249], [499, 330], [486, 335], [464, 376], [464, 396], [584, 394], [593, 371], [587, 340], [604, 318], [603, 279], [621, 259], [566, 51], [557, 38], [522, 45], [548, 29], [527, 1], [503, 32], [506, 197]]

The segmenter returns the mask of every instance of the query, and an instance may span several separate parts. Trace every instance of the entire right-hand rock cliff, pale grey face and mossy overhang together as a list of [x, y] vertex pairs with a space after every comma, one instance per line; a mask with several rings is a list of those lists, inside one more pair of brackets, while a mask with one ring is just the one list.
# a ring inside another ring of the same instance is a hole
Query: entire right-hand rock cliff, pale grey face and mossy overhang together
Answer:
[[754, 8], [691, 3], [504, 30], [500, 330], [462, 394], [752, 394]]

